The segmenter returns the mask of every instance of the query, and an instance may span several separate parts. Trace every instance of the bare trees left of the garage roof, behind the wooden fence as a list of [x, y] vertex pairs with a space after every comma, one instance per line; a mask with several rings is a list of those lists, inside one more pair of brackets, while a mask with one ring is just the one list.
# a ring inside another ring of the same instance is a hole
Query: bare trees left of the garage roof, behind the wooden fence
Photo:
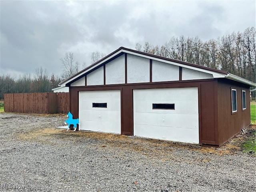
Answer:
[[[104, 56], [103, 53], [92, 52], [91, 63], [93, 64]], [[73, 76], [81, 69], [79, 62], [74, 60], [74, 54], [71, 52], [65, 53], [64, 57], [60, 58], [60, 62], [62, 64], [62, 74], [60, 76], [49, 75], [48, 70], [42, 67], [35, 68], [32, 75], [0, 75], [0, 100], [4, 99], [4, 93], [52, 92], [52, 89], [58, 87], [60, 82]], [[82, 68], [85, 67], [86, 64], [83, 63]]]

